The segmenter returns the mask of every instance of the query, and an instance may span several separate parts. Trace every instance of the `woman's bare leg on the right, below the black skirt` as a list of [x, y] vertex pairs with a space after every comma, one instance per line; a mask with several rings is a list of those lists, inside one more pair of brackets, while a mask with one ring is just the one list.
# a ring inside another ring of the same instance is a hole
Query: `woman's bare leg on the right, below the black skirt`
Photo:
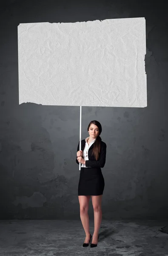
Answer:
[[94, 209], [94, 234], [92, 244], [97, 244], [100, 224], [102, 221], [102, 195], [92, 195], [92, 204]]

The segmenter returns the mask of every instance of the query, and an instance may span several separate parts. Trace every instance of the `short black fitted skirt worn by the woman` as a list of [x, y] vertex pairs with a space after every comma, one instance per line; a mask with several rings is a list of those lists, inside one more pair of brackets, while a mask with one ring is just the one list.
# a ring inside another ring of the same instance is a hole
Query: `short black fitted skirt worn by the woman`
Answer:
[[78, 195], [103, 195], [104, 186], [101, 168], [81, 167]]

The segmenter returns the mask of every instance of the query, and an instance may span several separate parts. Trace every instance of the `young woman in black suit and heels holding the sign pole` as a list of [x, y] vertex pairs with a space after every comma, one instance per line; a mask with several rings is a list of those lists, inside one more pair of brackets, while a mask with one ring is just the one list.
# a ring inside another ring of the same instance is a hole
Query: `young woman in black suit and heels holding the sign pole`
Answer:
[[[77, 147], [77, 164], [81, 163], [80, 179], [78, 184], [78, 198], [80, 203], [80, 218], [85, 230], [85, 241], [83, 247], [91, 243], [96, 247], [98, 233], [102, 221], [102, 195], [105, 186], [101, 168], [105, 165], [106, 144], [102, 141], [100, 134], [102, 126], [100, 122], [93, 120], [88, 125], [89, 137], [81, 140], [81, 151]], [[88, 205], [91, 197], [94, 209], [94, 233], [91, 242], [89, 231]]]

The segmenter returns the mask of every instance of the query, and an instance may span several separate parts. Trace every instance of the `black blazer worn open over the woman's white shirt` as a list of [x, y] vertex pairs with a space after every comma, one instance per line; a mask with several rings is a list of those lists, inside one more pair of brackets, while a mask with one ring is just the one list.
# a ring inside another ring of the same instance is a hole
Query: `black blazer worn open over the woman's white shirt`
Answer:
[[[83, 151], [85, 148], [85, 140], [81, 140], [81, 150]], [[94, 147], [94, 143], [90, 146], [89, 150], [88, 150], [88, 159], [85, 162], [85, 166], [86, 167], [94, 167], [94, 168], [103, 168], [105, 166], [105, 157], [106, 157], [106, 148], [107, 145], [105, 144], [105, 142], [101, 141], [101, 145], [100, 145], [100, 154], [99, 154], [99, 158], [96, 161], [94, 154], [91, 156], [92, 151], [93, 151], [93, 147]], [[77, 146], [77, 151], [80, 150], [80, 142], [78, 143]], [[80, 164], [76, 158], [76, 162], [77, 164]], [[82, 166], [82, 164], [81, 164]]]

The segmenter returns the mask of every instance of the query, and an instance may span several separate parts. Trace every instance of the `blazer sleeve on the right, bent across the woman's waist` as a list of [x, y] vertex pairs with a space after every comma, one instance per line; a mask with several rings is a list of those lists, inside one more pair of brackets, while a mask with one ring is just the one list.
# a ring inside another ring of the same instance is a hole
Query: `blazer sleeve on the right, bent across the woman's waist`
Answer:
[[85, 166], [86, 167], [103, 168], [105, 166], [106, 148], [107, 148], [107, 145], [105, 143], [103, 143], [103, 145], [100, 148], [99, 160], [98, 161], [86, 160], [85, 161]]

